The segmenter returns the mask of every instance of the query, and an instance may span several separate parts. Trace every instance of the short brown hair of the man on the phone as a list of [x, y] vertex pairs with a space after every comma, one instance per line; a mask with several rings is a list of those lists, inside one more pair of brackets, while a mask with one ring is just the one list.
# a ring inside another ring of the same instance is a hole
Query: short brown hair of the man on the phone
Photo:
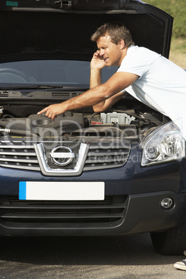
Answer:
[[121, 39], [124, 40], [126, 47], [135, 44], [130, 31], [120, 22], [108, 22], [101, 25], [91, 36], [91, 40], [92, 42], [96, 42], [100, 37], [103, 37], [106, 34], [110, 35], [111, 41], [114, 44], [117, 44]]

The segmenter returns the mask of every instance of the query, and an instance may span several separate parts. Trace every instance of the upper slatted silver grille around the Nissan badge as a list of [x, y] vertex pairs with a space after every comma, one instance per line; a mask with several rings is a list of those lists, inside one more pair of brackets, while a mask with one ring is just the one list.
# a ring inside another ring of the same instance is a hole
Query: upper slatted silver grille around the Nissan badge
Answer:
[[[62, 144], [66, 146], [69, 144], [69, 147], [73, 149], [76, 154], [75, 158], [78, 157], [77, 149], [80, 144], [70, 142], [67, 142], [67, 144], [62, 142]], [[47, 153], [49, 153], [49, 149], [52, 149], [52, 146], [56, 146], [56, 143], [53, 142], [51, 145], [51, 142], [44, 142], [44, 146]], [[90, 144], [89, 152], [87, 153], [87, 159], [83, 170], [89, 171], [94, 169], [120, 167], [127, 162], [129, 153], [130, 144], [128, 144], [128, 142], [125, 144], [123, 142], [119, 143], [112, 141], [92, 142]], [[8, 140], [0, 142], [0, 166], [40, 171], [40, 164], [37, 160], [33, 143], [23, 140]], [[49, 167], [55, 168], [51, 159], [49, 160]], [[68, 167], [71, 168], [74, 167], [74, 165], [71, 164]]]

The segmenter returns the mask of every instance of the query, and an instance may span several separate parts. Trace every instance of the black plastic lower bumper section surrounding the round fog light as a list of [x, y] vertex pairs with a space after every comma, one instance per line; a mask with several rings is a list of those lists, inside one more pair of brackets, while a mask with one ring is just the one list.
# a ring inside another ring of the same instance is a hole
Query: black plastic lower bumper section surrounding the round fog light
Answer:
[[[167, 196], [174, 200], [174, 207], [171, 210], [163, 210], [160, 205], [162, 198]], [[67, 204], [63, 203], [60, 205], [60, 214], [59, 205], [56, 203], [55, 217], [53, 217], [54, 203], [48, 206], [46, 203], [42, 205], [24, 203], [20, 210], [18, 202], [9, 213], [8, 206], [3, 203], [0, 235], [127, 235], [167, 230], [185, 220], [185, 198], [186, 194], [168, 191], [133, 194], [126, 196], [124, 204], [112, 203], [101, 208], [96, 204], [88, 205], [85, 209], [86, 205], [72, 203], [67, 210]], [[14, 203], [16, 204], [16, 201]]]

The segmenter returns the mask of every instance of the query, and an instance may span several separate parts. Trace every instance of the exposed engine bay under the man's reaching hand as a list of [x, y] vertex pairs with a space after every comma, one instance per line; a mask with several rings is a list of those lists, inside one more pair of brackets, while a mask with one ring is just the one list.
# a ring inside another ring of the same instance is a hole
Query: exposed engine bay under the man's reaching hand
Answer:
[[102, 113], [94, 113], [92, 108], [68, 111], [58, 115], [55, 121], [44, 114], [35, 113], [44, 108], [41, 105], [10, 102], [0, 109], [0, 132], [2, 137], [62, 137], [73, 140], [80, 137], [99, 139], [122, 136], [126, 140], [140, 142], [152, 129], [169, 119], [136, 102], [131, 97], [124, 98]]

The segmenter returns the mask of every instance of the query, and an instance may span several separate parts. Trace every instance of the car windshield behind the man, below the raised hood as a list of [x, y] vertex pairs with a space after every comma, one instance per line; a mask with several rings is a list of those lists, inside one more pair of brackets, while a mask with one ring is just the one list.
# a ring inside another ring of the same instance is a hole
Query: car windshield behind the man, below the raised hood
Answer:
[[[117, 67], [105, 67], [102, 82], [115, 73]], [[89, 87], [90, 61], [28, 60], [0, 64], [0, 87], [29, 85], [60, 85]]]

